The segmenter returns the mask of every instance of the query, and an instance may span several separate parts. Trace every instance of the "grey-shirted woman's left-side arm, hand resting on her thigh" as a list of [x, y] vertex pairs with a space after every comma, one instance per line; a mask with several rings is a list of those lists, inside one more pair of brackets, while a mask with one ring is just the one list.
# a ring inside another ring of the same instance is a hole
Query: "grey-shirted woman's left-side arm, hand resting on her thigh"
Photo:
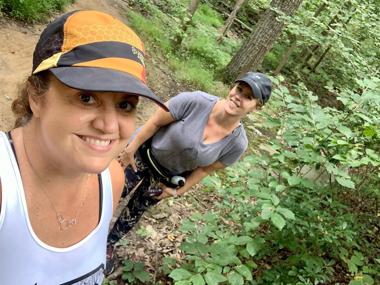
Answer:
[[[169, 101], [166, 101], [165, 105], [169, 107]], [[176, 119], [170, 114], [170, 112], [164, 111], [162, 108], [158, 108], [152, 117], [142, 126], [138, 134], [132, 139], [131, 143], [125, 148], [124, 152], [119, 155], [117, 161], [120, 162], [122, 169], [125, 170], [128, 165], [132, 166], [134, 171], [137, 171], [135, 165], [134, 155], [136, 150], [149, 138], [151, 138], [160, 127], [168, 125], [174, 122]]]

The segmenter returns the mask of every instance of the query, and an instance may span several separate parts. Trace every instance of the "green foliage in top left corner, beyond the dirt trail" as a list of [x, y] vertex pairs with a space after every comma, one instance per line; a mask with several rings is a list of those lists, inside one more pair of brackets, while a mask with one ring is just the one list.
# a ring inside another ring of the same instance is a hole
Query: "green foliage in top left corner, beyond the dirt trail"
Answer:
[[0, 9], [25, 22], [46, 19], [50, 11], [64, 11], [73, 0], [2, 0]]

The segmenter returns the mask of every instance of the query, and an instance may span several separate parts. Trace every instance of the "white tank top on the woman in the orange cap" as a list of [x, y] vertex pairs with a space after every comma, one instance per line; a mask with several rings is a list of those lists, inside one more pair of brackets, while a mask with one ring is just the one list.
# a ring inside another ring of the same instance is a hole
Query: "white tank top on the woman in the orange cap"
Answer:
[[1, 131], [0, 177], [0, 284], [101, 285], [113, 209], [108, 168], [98, 175], [98, 226], [82, 241], [63, 249], [44, 244], [33, 232], [13, 142]]

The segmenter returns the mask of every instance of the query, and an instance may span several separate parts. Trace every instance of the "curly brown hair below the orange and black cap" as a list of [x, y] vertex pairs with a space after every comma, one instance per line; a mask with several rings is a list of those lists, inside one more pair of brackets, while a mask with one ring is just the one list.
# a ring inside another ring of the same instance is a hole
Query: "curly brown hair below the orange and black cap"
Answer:
[[44, 70], [37, 74], [30, 75], [20, 84], [17, 96], [12, 102], [12, 111], [14, 116], [16, 116], [14, 128], [24, 127], [33, 117], [33, 112], [29, 104], [28, 88], [30, 89], [30, 87], [32, 87], [34, 89], [33, 94], [31, 94], [33, 100], [44, 100], [50, 88], [51, 79], [51, 72]]

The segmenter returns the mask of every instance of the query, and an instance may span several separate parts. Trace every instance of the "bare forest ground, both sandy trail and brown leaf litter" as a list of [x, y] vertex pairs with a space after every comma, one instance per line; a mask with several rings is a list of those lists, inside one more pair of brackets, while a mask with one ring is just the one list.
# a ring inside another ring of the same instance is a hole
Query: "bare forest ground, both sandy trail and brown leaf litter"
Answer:
[[[81, 0], [78, 3], [67, 7], [66, 11], [76, 9], [98, 10], [109, 13], [118, 19], [125, 19], [123, 13], [126, 3], [122, 0]], [[32, 70], [32, 57], [35, 45], [39, 36], [49, 21], [60, 16], [54, 13], [46, 23], [26, 25], [21, 22], [13, 21], [8, 17], [0, 19], [0, 130], [11, 130], [14, 117], [11, 112], [11, 103], [16, 96], [17, 86], [24, 81]], [[161, 100], [169, 98], [186, 91], [191, 91], [190, 87], [181, 85], [174, 81], [170, 75], [160, 69], [160, 62], [152, 59], [149, 51], [146, 54], [147, 63], [147, 86]], [[138, 106], [138, 119], [136, 128], [143, 125], [147, 119], [157, 109], [157, 105], [149, 100], [140, 100]], [[198, 185], [196, 188], [201, 187]], [[210, 193], [203, 191], [195, 192], [189, 190], [187, 195], [179, 199], [166, 199], [157, 206], [152, 207], [143, 215], [138, 224], [125, 236], [122, 244], [116, 247], [116, 256], [119, 263], [116, 263], [114, 273], [109, 276], [110, 280], [116, 280], [115, 284], [124, 284], [121, 279], [122, 261], [129, 258], [134, 262], [144, 262], [145, 270], [150, 272], [153, 283], [156, 281], [161, 284], [171, 284], [167, 277], [159, 269], [161, 258], [171, 256], [181, 259], [185, 255], [178, 249], [182, 236], [176, 233], [176, 229], [181, 225], [181, 219], [190, 217], [194, 212], [204, 214], [212, 210], [217, 196], [210, 198]], [[127, 203], [125, 198], [117, 208], [115, 216], [112, 218], [111, 226], [116, 220], [122, 207]], [[141, 236], [136, 234], [136, 230], [144, 226], [150, 235]], [[168, 239], [168, 234], [174, 233], [174, 240]]]

